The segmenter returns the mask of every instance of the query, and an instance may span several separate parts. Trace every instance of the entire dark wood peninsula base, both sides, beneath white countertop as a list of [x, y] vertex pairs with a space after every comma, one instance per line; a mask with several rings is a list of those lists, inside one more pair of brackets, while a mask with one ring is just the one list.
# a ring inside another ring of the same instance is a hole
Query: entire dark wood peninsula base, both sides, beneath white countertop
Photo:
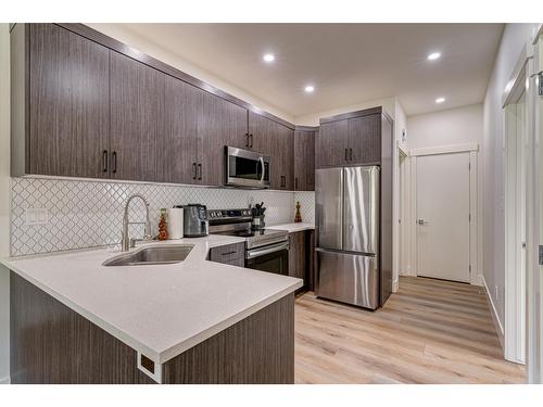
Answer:
[[[137, 352], [11, 272], [12, 383], [155, 383]], [[162, 365], [163, 383], [293, 383], [289, 294]]]

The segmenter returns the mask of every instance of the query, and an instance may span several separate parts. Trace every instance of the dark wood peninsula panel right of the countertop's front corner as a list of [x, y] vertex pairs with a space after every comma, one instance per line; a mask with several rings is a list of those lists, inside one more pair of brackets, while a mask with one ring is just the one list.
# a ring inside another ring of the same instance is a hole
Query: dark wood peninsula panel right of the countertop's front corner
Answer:
[[164, 383], [294, 383], [294, 293], [163, 366]]

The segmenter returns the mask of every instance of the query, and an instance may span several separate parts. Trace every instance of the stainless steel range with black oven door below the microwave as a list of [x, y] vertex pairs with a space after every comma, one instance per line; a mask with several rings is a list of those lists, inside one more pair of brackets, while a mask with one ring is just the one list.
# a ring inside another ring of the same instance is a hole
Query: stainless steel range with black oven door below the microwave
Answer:
[[289, 274], [289, 233], [286, 230], [252, 230], [251, 209], [207, 211], [211, 234], [245, 238], [245, 267], [255, 270]]

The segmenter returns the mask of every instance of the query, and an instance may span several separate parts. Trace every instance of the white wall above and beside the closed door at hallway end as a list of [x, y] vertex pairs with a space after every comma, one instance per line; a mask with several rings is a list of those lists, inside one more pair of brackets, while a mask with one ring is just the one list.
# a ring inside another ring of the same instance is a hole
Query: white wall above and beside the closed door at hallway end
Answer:
[[[482, 104], [472, 104], [445, 111], [420, 114], [409, 116], [407, 118], [407, 144], [411, 150], [424, 149], [432, 147], [457, 145], [466, 143], [479, 144], [477, 153], [478, 166], [477, 171], [478, 196], [477, 196], [477, 240], [479, 247], [479, 262], [475, 264], [473, 282], [479, 283], [478, 276], [482, 272], [480, 265], [482, 263], [482, 135], [483, 135], [483, 106]], [[413, 202], [412, 202], [413, 204]], [[411, 213], [414, 214], [413, 212]], [[404, 222], [408, 229], [415, 225], [415, 219], [412, 216], [406, 217]], [[406, 230], [405, 237], [409, 237], [411, 230]], [[404, 246], [407, 246], [405, 242]], [[415, 271], [413, 268], [415, 247], [411, 247], [411, 252], [404, 257], [406, 260], [405, 270], [403, 274], [409, 275]]]

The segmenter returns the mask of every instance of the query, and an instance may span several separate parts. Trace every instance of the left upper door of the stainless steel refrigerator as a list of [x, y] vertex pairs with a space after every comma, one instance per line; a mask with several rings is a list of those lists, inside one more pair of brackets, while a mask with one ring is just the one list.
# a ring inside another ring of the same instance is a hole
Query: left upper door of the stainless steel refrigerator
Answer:
[[343, 168], [325, 168], [315, 171], [315, 204], [317, 245], [341, 250]]

